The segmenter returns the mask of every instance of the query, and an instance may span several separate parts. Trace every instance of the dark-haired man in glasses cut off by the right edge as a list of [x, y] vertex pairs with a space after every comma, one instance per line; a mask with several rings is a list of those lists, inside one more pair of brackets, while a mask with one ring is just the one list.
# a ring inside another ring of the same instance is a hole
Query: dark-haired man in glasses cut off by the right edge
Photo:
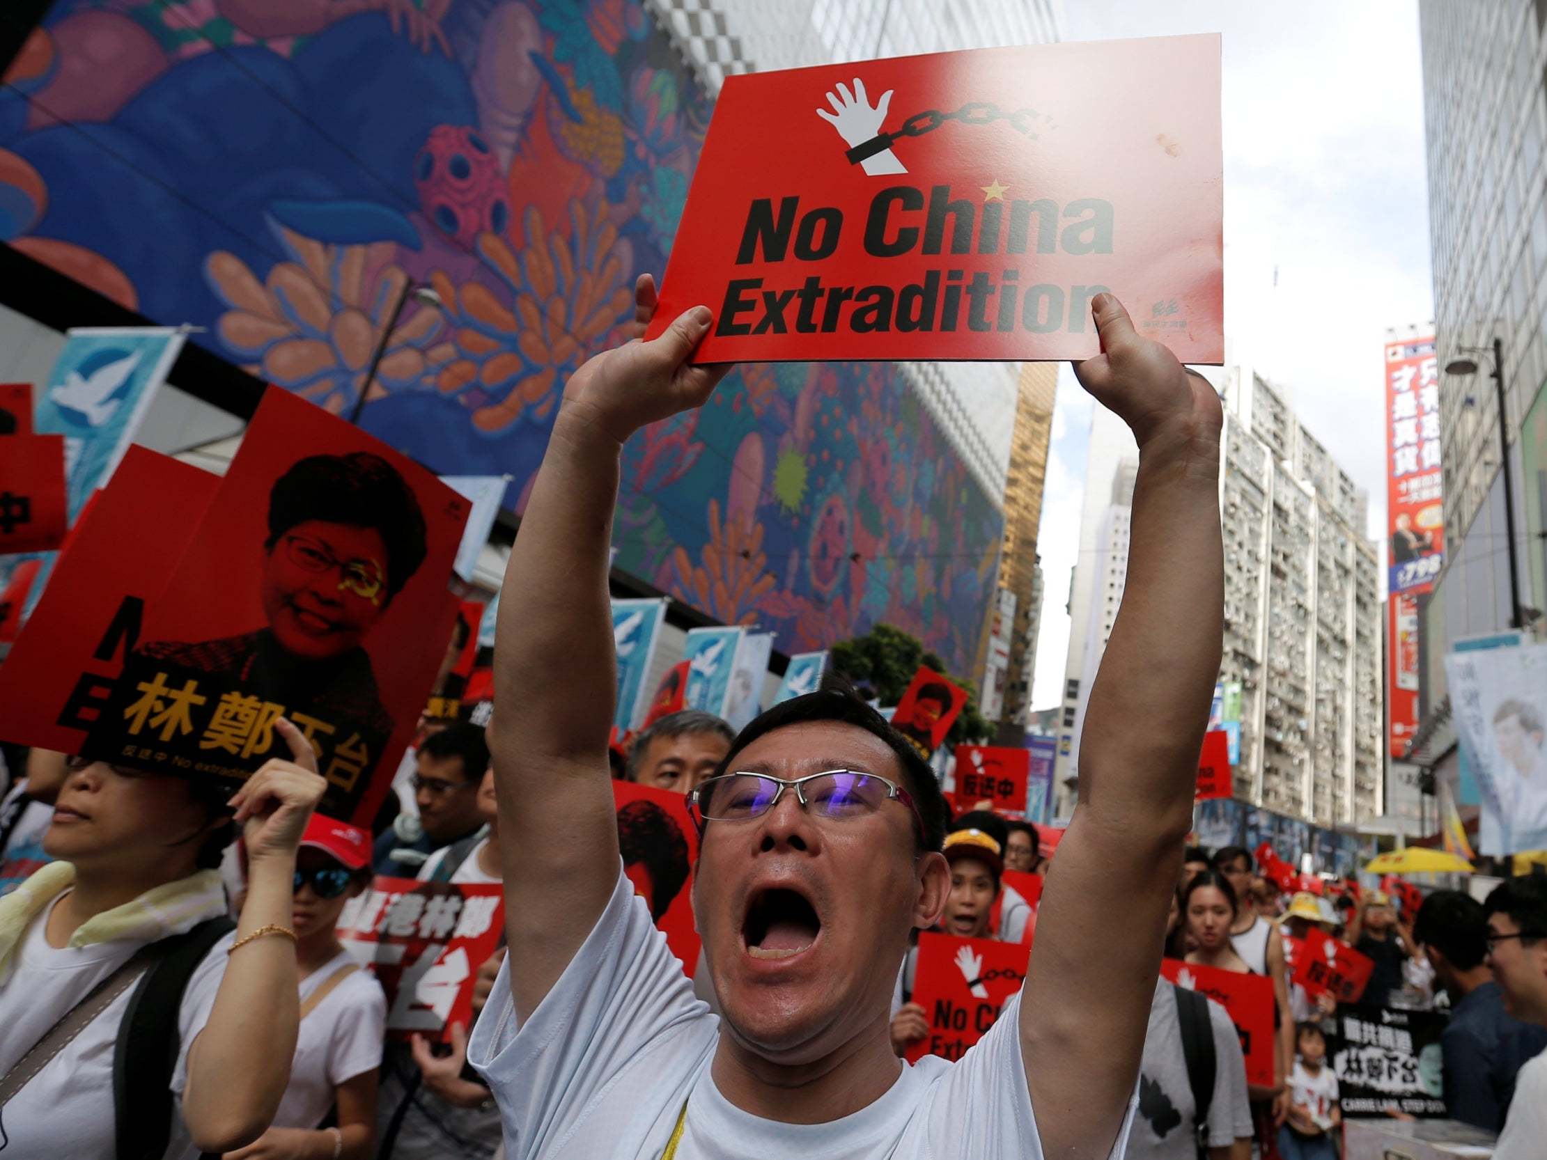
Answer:
[[[1547, 1027], [1547, 875], [1519, 875], [1494, 886], [1488, 913], [1488, 967], [1504, 990], [1504, 1008]], [[1515, 1100], [1493, 1160], [1539, 1160], [1547, 1148], [1547, 1052], [1521, 1067]]]

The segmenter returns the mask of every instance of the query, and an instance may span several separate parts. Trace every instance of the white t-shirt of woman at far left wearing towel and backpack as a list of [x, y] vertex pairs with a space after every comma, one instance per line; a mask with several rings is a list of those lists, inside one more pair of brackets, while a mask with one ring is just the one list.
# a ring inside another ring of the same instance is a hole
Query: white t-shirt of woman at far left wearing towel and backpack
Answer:
[[[60, 892], [59, 897], [63, 897]], [[11, 1070], [65, 1012], [105, 979], [144, 943], [99, 942], [90, 947], [48, 945], [43, 928], [59, 899], [32, 919], [11, 977], [0, 987], [0, 1075]], [[187, 1053], [204, 1030], [215, 1005], [215, 991], [226, 973], [227, 934], [193, 971], [178, 1008], [181, 1050], [172, 1075], [172, 1137], [167, 1157], [193, 1160], [198, 1151], [183, 1126], [181, 1097], [187, 1083]], [[113, 1047], [128, 1010], [130, 987], [93, 1019], [73, 1042], [32, 1076], [0, 1109], [0, 1157], [68, 1155], [80, 1160], [111, 1160], [113, 1140]]]

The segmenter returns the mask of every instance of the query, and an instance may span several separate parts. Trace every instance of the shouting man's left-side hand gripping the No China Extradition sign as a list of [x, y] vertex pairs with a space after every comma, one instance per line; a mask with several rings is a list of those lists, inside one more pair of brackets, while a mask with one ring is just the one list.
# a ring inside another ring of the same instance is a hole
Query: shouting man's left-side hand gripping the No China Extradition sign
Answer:
[[[634, 285], [636, 325], [642, 328], [654, 312], [656, 283], [642, 274]], [[622, 445], [640, 427], [702, 407], [730, 370], [688, 363], [713, 320], [707, 306], [693, 306], [650, 342], [633, 340], [588, 359], [565, 384], [565, 410]]]

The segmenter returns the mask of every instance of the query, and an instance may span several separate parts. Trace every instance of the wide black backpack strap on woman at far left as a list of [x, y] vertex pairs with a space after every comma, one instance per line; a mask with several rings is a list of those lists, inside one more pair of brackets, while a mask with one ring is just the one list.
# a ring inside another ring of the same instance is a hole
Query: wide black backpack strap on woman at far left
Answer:
[[113, 1047], [118, 1160], [159, 1160], [172, 1138], [172, 1073], [183, 1036], [178, 1013], [193, 971], [237, 923], [220, 916], [153, 943], [159, 962], [128, 999]]

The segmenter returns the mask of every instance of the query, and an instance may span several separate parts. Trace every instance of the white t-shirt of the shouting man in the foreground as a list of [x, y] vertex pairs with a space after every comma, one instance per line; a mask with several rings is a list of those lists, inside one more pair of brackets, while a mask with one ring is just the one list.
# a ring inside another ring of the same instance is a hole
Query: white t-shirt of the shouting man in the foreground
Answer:
[[[719, 1018], [699, 999], [619, 874], [613, 897], [524, 1025], [509, 959], [467, 1056], [504, 1121], [509, 1160], [656, 1160], [687, 1106], [678, 1160], [1041, 1160], [1018, 1035], [1019, 996], [959, 1063], [902, 1064], [854, 1115], [786, 1124], [749, 1115], [715, 1087]], [[1132, 1107], [1114, 1155], [1126, 1146]]]

